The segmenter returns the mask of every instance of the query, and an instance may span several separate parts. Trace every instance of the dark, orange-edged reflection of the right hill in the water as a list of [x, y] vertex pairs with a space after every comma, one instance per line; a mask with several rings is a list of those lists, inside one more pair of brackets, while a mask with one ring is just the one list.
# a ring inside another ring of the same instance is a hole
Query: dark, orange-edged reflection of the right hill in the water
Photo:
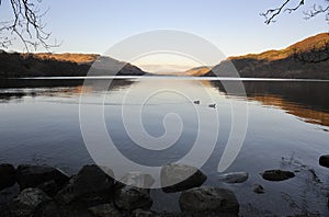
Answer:
[[[227, 93], [219, 81], [211, 83]], [[252, 101], [277, 106], [308, 123], [329, 126], [328, 82], [246, 81], [243, 84], [248, 99]]]

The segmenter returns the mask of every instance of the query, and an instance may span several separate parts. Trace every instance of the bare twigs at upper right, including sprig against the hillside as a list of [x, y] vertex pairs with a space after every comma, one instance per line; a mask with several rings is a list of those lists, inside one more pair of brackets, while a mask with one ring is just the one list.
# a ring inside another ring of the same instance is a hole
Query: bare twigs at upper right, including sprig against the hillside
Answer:
[[[285, 0], [277, 8], [272, 8], [261, 13], [265, 19], [265, 24], [275, 22], [281, 13], [293, 13], [305, 5], [307, 0]], [[311, 9], [304, 11], [304, 19], [309, 20], [318, 14], [325, 14], [329, 23], [329, 0], [324, 0], [322, 4], [315, 3]], [[329, 60], [329, 41], [325, 41], [321, 47], [313, 47], [307, 53], [294, 52], [293, 57], [297, 61], [317, 64]]]

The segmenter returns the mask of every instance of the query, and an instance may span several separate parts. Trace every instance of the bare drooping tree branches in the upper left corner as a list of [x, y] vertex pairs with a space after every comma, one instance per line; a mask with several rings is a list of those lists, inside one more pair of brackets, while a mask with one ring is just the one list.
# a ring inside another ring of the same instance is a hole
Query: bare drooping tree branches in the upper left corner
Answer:
[[[0, 7], [3, 0], [0, 0]], [[50, 33], [45, 30], [46, 25], [42, 18], [47, 13], [41, 11], [38, 4], [42, 0], [8, 0], [11, 7], [12, 19], [0, 21], [0, 47], [8, 48], [12, 42], [19, 38], [26, 52], [43, 46], [47, 50], [59, 46], [55, 41], [49, 44]]]

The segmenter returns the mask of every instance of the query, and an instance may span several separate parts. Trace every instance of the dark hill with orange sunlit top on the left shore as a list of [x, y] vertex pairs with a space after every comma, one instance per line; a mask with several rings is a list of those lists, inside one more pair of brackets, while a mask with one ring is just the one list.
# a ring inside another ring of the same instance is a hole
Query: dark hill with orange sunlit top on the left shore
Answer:
[[146, 73], [131, 64], [94, 54], [0, 52], [0, 78], [77, 77], [87, 76], [90, 70], [93, 76], [143, 76]]

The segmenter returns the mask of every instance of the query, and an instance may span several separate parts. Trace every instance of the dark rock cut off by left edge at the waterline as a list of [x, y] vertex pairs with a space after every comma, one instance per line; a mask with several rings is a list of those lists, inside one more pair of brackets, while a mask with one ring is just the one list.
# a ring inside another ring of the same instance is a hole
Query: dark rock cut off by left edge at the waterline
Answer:
[[16, 182], [16, 170], [12, 164], [0, 164], [0, 191], [14, 185]]

